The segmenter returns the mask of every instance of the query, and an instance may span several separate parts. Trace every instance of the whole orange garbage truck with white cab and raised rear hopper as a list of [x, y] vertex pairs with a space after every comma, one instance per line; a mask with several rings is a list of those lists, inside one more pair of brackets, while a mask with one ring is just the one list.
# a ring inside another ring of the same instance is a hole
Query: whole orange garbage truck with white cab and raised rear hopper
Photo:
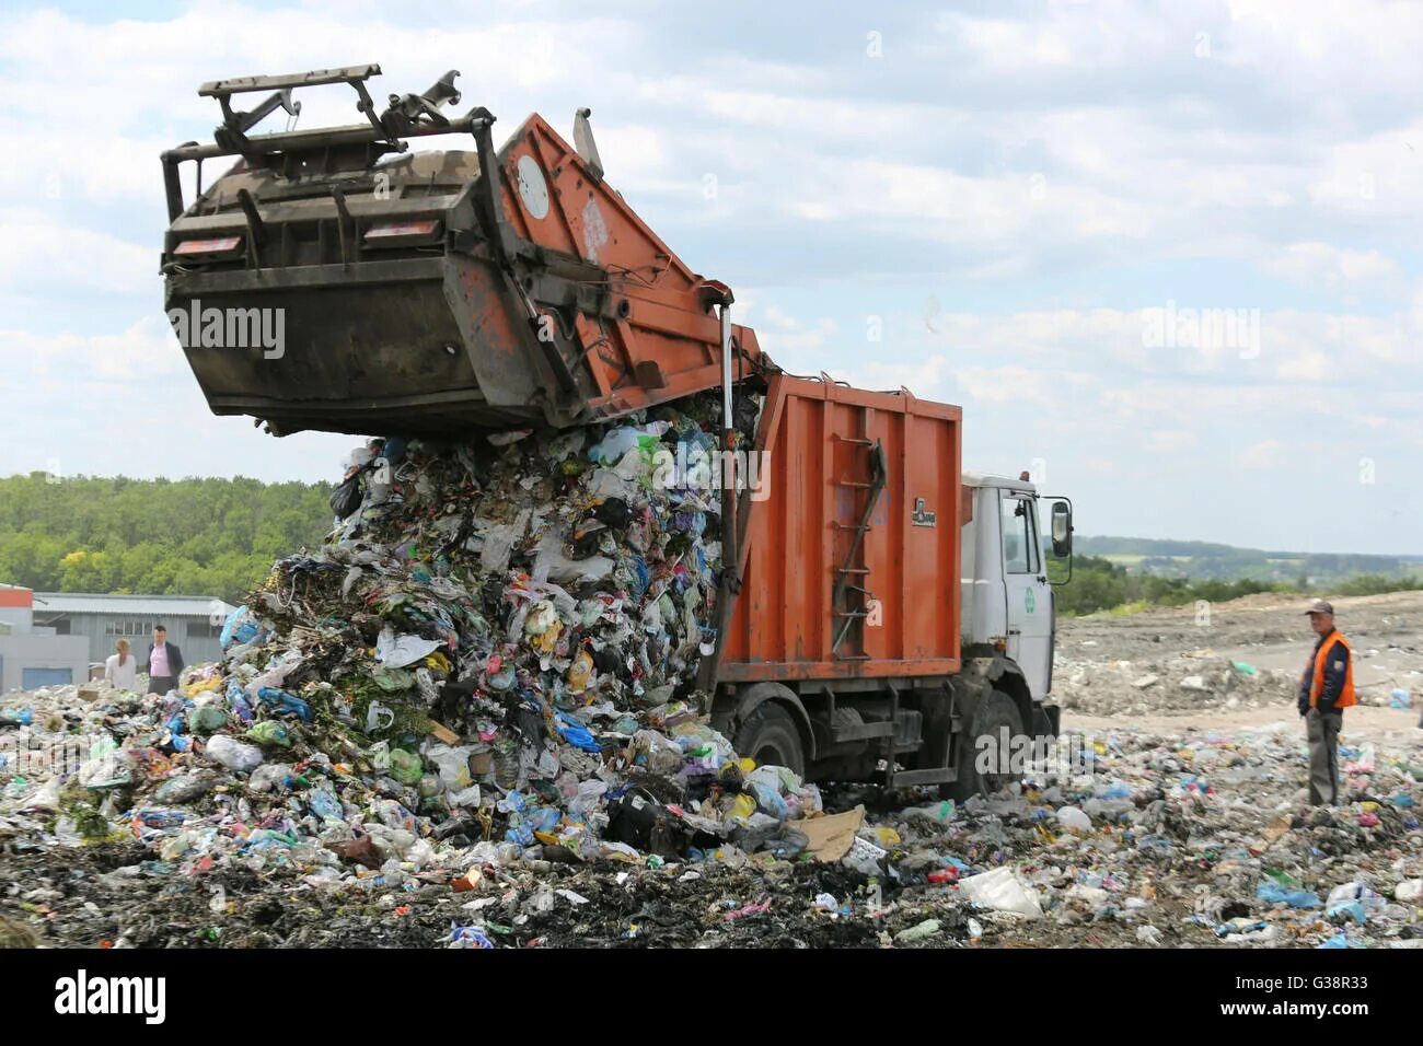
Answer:
[[[531, 115], [495, 149], [457, 71], [384, 108], [379, 74], [203, 84], [213, 141], [162, 154], [164, 305], [211, 410], [457, 440], [720, 390], [713, 726], [810, 780], [962, 797], [1020, 773], [1005, 756], [1059, 730], [1070, 501], [965, 472], [956, 406], [777, 367], [605, 181], [589, 110], [572, 145]], [[361, 121], [253, 132], [322, 85]], [[437, 135], [462, 148], [411, 148]], [[229, 167], [205, 184], [206, 161]]]

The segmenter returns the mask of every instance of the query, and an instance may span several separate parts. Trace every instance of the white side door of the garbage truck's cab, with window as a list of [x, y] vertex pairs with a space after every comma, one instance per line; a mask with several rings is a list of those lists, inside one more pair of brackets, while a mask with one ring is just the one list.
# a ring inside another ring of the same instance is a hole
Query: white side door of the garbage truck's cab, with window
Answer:
[[1000, 491], [1003, 586], [1007, 595], [1007, 656], [1017, 662], [1033, 697], [1047, 693], [1053, 657], [1053, 595], [1043, 565], [1037, 507], [1029, 494]]

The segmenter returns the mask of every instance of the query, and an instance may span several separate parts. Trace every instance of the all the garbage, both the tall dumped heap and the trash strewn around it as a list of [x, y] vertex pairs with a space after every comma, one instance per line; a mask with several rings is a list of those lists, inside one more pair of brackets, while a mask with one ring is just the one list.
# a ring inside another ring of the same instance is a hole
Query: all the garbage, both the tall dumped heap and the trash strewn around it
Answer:
[[1423, 756], [1345, 746], [1348, 801], [1305, 807], [1294, 682], [1249, 665], [1111, 672], [1278, 727], [1069, 736], [962, 805], [739, 759], [697, 687], [717, 406], [374, 441], [221, 663], [0, 700], [0, 944], [1423, 941]]

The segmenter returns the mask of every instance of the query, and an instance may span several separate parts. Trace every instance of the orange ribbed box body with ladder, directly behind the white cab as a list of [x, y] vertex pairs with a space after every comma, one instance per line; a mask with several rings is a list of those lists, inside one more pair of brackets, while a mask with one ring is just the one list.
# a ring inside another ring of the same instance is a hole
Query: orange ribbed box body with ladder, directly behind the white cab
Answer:
[[[961, 420], [906, 391], [771, 376], [756, 445], [766, 498], [741, 498], [719, 680], [958, 672]], [[855, 546], [875, 445], [887, 475]]]

